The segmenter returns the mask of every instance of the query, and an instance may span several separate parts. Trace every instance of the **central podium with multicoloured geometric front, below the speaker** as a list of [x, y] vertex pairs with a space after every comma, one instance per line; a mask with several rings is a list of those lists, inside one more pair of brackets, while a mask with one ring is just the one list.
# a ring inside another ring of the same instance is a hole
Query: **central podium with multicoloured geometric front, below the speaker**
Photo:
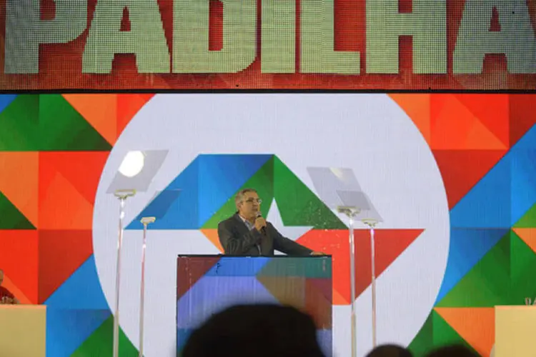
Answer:
[[332, 352], [331, 256], [179, 256], [177, 356], [213, 313], [238, 304], [277, 303], [309, 313], [325, 356]]

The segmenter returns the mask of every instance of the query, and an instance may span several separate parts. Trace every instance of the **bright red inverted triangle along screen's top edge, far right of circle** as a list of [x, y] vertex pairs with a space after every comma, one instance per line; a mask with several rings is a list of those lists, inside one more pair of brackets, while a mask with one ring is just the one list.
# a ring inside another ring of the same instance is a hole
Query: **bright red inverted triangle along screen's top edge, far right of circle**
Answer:
[[510, 144], [510, 100], [508, 94], [455, 94], [505, 147]]

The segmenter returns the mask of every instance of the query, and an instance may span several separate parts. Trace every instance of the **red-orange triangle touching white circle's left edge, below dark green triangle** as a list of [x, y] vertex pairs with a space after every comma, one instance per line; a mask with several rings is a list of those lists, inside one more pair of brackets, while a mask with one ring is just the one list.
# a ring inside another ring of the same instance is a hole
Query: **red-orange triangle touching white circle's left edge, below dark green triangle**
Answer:
[[109, 151], [41, 152], [39, 164], [64, 176], [93, 204]]

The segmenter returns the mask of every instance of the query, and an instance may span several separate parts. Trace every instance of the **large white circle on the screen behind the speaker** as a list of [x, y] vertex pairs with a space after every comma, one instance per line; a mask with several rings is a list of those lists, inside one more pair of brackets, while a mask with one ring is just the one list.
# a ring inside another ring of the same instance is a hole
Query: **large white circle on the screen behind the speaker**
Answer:
[[[385, 94], [159, 94], [126, 127], [101, 176], [94, 206], [94, 256], [113, 308], [119, 202], [106, 193], [129, 151], [169, 150], [149, 191], [126, 202], [126, 222], [199, 154], [275, 154], [313, 192], [307, 167], [353, 169], [382, 215], [379, 228], [425, 231], [377, 279], [378, 343], [407, 345], [430, 314], [445, 273], [449, 210], [430, 147]], [[357, 228], [363, 228], [358, 226]], [[142, 232], [125, 231], [120, 324], [139, 346]], [[177, 255], [217, 254], [197, 230], [149, 231], [147, 357], [176, 356]], [[372, 347], [370, 288], [357, 298], [358, 355]], [[350, 356], [350, 308], [333, 308], [334, 356]]]

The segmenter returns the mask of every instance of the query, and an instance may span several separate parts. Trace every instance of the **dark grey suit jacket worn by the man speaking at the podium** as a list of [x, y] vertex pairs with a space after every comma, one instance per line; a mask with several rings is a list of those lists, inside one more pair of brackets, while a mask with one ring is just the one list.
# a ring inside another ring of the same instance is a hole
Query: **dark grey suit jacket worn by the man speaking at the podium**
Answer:
[[235, 213], [218, 224], [219, 242], [225, 254], [233, 256], [273, 256], [274, 250], [289, 256], [309, 256], [312, 250], [282, 236], [272, 223], [267, 222], [266, 236], [253, 228], [247, 228]]

